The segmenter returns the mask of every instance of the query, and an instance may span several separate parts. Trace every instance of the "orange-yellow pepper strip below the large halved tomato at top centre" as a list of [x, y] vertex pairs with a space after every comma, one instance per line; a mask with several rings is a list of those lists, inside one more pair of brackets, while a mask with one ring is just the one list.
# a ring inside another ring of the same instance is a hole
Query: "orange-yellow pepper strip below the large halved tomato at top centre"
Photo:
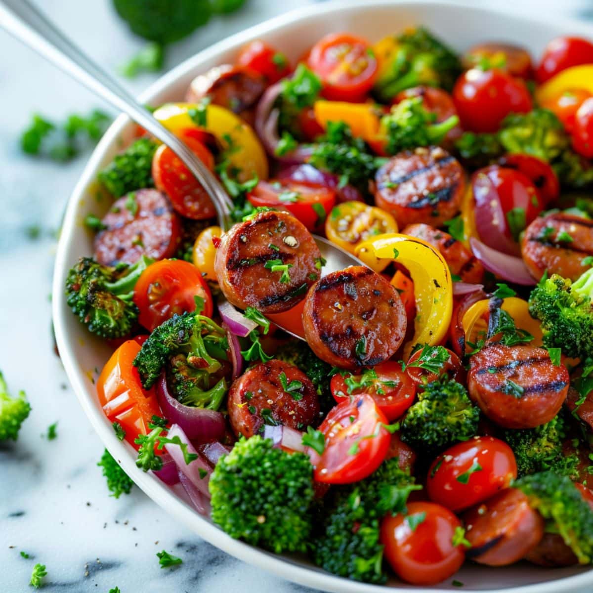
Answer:
[[317, 123], [327, 129], [328, 122], [344, 122], [350, 126], [352, 135], [365, 141], [377, 139], [380, 111], [369, 103], [346, 103], [345, 101], [315, 101], [313, 112]]

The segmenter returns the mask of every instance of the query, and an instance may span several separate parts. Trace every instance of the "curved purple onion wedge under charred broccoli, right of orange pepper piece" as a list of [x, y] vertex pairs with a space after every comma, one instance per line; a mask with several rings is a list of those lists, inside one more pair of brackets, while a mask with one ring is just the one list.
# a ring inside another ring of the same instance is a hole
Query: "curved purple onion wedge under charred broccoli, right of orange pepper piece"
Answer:
[[221, 412], [184, 406], [169, 392], [167, 375], [163, 371], [156, 385], [157, 401], [165, 417], [179, 425], [193, 441], [209, 442], [223, 438], [225, 419]]

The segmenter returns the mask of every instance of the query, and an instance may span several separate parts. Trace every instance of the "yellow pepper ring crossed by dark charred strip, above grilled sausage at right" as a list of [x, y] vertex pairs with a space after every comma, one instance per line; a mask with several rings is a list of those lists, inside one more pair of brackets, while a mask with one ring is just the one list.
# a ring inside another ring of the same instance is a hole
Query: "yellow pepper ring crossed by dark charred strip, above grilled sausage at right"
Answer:
[[[471, 351], [471, 347], [467, 346], [467, 342], [477, 343], [480, 338], [486, 336], [489, 302], [489, 299], [474, 302], [461, 319], [461, 325], [466, 334], [466, 352]], [[533, 340], [528, 342], [529, 345], [542, 345], [544, 336], [541, 331], [541, 323], [529, 314], [527, 301], [518, 297], [507, 297], [503, 299], [501, 308], [511, 315], [517, 329], [528, 331], [533, 336]]]

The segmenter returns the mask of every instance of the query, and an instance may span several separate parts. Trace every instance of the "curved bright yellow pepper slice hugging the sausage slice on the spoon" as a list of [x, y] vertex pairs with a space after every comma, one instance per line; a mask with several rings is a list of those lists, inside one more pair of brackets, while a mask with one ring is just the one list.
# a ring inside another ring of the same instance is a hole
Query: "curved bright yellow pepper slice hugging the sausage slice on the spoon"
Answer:
[[414, 345], [440, 343], [449, 330], [453, 310], [451, 273], [443, 256], [422, 239], [393, 233], [362, 243], [358, 257], [371, 269], [377, 268], [377, 260], [396, 260], [410, 273], [417, 315], [414, 336], [404, 346], [406, 360]]

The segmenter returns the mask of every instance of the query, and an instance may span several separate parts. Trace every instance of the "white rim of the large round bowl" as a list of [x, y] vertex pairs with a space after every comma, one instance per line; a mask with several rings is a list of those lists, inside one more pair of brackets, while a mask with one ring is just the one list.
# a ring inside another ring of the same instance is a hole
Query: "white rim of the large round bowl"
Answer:
[[[295, 10], [286, 12], [285, 14], [280, 14], [269, 20], [263, 21], [263, 23], [253, 25], [240, 33], [225, 37], [225, 39], [222, 39], [212, 46], [196, 53], [196, 55], [184, 60], [184, 62], [171, 69], [167, 74], [161, 76], [157, 81], [151, 84], [144, 93], [139, 95], [139, 101], [141, 103], [148, 103], [153, 97], [164, 93], [168, 88], [172, 87], [176, 81], [184, 75], [187, 75], [192, 71], [197, 71], [200, 65], [203, 62], [206, 62], [206, 60], [213, 59], [225, 51], [240, 47], [250, 40], [266, 36], [266, 34], [279, 31], [283, 28], [295, 27], [303, 21], [310, 20], [311, 18], [319, 18], [323, 15], [337, 12], [343, 8], [365, 8], [372, 10], [374, 8], [385, 6], [414, 8], [417, 7], [417, 5], [423, 5], [426, 9], [443, 7], [467, 8], [471, 11], [482, 13], [484, 18], [487, 18], [488, 15], [499, 15], [513, 20], [525, 21], [526, 25], [533, 21], [542, 24], [550, 24], [553, 20], [554, 24], [559, 28], [565, 28], [568, 31], [573, 31], [573, 33], [593, 36], [593, 25], [581, 23], [572, 18], [560, 17], [557, 15], [546, 16], [542, 14], [528, 14], [524, 11], [509, 15], [500, 8], [477, 7], [472, 4], [471, 0], [334, 0], [324, 2], [323, 4], [304, 5]], [[131, 455], [131, 451], [133, 451], [132, 447], [120, 442], [116, 438], [109, 421], [107, 421], [106, 417], [97, 409], [97, 406], [94, 405], [92, 398], [88, 397], [88, 388], [86, 384], [88, 382], [88, 377], [76, 364], [74, 355], [76, 344], [69, 340], [68, 332], [66, 330], [66, 318], [67, 315], [71, 315], [71, 313], [63, 298], [63, 285], [66, 273], [71, 264], [69, 259], [71, 257], [70, 250], [74, 236], [77, 232], [76, 218], [78, 216], [80, 202], [85, 196], [88, 187], [95, 180], [96, 171], [101, 164], [101, 160], [104, 158], [104, 153], [111, 145], [117, 142], [120, 134], [126, 129], [129, 123], [129, 117], [125, 114], [120, 114], [94, 149], [93, 154], [85, 165], [85, 168], [69, 197], [62, 224], [62, 232], [56, 250], [55, 269], [52, 282], [52, 294], [54, 295], [52, 301], [52, 317], [56, 343], [68, 380], [74, 388], [76, 397], [78, 398], [85, 415], [90, 420], [95, 432], [98, 433], [98, 436], [107, 449], [109, 449], [110, 453], [120, 461], [123, 469], [126, 470], [130, 476], [133, 476], [136, 485], [138, 485], [149, 498], [154, 500], [154, 502], [162, 508], [166, 509], [169, 514], [173, 515], [173, 517], [182, 525], [189, 527], [195, 533], [200, 535], [200, 537], [218, 549], [243, 560], [243, 562], [247, 562], [257, 568], [272, 572], [289, 581], [313, 588], [321, 588], [324, 591], [334, 591], [336, 593], [379, 593], [380, 591], [385, 591], [386, 587], [384, 585], [371, 585], [340, 578], [313, 566], [304, 566], [298, 562], [298, 560], [292, 559], [291, 557], [273, 554], [244, 543], [243, 541], [229, 537], [229, 535], [225, 534], [220, 528], [216, 527], [216, 525], [197, 514], [190, 505], [184, 502], [175, 493], [171, 492], [171, 490], [164, 486], [164, 484], [162, 484], [156, 477], [151, 476], [148, 473], [144, 474], [138, 472]], [[593, 569], [590, 569], [578, 573], [577, 575], [560, 577], [553, 579], [552, 581], [530, 585], [496, 589], [464, 588], [464, 591], [467, 593], [557, 593], [560, 590], [576, 591], [576, 589], [581, 586], [592, 584]], [[407, 585], [403, 582], [401, 586], [392, 589], [403, 593], [435, 593], [450, 590], [448, 586], [446, 586], [446, 588], [441, 588], [441, 585], [436, 585], [430, 588], [423, 588], [420, 586]]]

